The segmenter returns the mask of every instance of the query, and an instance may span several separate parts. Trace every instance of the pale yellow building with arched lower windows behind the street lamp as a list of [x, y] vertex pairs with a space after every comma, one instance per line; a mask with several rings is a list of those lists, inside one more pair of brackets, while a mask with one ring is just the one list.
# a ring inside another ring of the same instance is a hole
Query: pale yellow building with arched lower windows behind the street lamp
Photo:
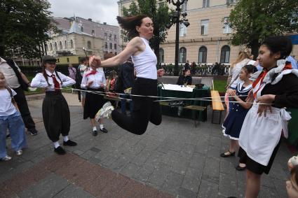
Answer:
[[[157, 0], [159, 3], [165, 0]], [[122, 15], [123, 7], [128, 8], [133, 0], [118, 1], [118, 12]], [[231, 64], [239, 50], [244, 46], [231, 45], [232, 29], [229, 27], [229, 14], [236, 0], [188, 0], [182, 5], [182, 12], [187, 12], [189, 27], [180, 24], [179, 62]], [[229, 5], [229, 6], [228, 6]], [[175, 10], [172, 3], [169, 7]], [[160, 62], [175, 62], [175, 32], [173, 25], [168, 30], [165, 42], [160, 45]], [[292, 54], [297, 54], [297, 45]], [[298, 54], [297, 56], [298, 57]]]

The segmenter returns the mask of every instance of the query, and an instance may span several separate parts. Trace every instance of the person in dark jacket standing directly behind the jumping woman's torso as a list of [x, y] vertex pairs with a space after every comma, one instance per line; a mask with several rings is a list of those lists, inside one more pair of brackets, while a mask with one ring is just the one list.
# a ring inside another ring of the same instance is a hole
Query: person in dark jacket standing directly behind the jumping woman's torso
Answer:
[[[121, 95], [121, 112], [126, 115], [126, 99], [131, 99], [130, 92], [133, 88], [133, 83], [135, 81], [135, 69], [133, 67], [133, 62], [131, 61], [131, 57], [122, 64], [121, 70], [119, 73], [120, 78], [118, 80], [122, 80], [123, 87], [121, 92], [125, 92], [125, 94]], [[129, 101], [130, 113], [133, 112], [133, 101]]]

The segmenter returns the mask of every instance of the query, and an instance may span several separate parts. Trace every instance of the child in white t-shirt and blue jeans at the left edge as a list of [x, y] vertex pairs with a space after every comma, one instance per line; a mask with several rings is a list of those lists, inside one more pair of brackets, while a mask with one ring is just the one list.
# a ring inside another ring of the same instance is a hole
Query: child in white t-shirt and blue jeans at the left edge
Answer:
[[13, 97], [17, 93], [6, 85], [4, 73], [0, 72], [0, 160], [11, 160], [6, 152], [6, 131], [11, 134], [11, 147], [16, 155], [22, 155], [22, 148], [27, 146], [25, 125]]

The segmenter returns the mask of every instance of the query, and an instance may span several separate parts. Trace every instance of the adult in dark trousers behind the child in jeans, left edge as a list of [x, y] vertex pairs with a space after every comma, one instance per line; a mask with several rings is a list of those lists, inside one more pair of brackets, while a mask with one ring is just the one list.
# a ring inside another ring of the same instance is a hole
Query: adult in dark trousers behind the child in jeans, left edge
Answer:
[[37, 130], [31, 117], [24, 92], [24, 90], [27, 91], [28, 87], [30, 86], [28, 78], [24, 73], [22, 73], [13, 59], [0, 57], [0, 71], [4, 73], [8, 86], [17, 93], [15, 95], [15, 101], [18, 104], [18, 108], [20, 109], [22, 120], [24, 121], [28, 132], [32, 136], [35, 136], [37, 134]]

